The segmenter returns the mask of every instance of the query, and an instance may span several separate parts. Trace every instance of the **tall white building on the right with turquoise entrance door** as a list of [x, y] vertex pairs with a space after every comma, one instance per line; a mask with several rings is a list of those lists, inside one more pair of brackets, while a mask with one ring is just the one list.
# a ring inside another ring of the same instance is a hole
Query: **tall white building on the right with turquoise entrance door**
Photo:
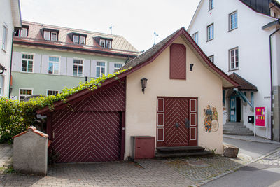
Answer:
[[[267, 106], [268, 137], [277, 141], [280, 140], [278, 18], [280, 4], [274, 0], [202, 0], [188, 27], [188, 32], [211, 61], [241, 85], [238, 89], [224, 91], [223, 123], [243, 123], [253, 130], [253, 123], [248, 121], [248, 116], [254, 114], [253, 106]], [[257, 128], [256, 134], [265, 137], [266, 131]]]

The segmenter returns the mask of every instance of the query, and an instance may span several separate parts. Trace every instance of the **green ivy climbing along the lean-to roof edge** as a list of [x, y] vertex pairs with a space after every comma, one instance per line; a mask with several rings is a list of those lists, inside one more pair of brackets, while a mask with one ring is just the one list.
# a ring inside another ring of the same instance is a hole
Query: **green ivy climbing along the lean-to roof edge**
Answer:
[[49, 95], [43, 97], [42, 95], [32, 98], [27, 102], [18, 102], [0, 97], [0, 143], [12, 143], [12, 137], [27, 130], [31, 125], [36, 125], [34, 113], [38, 109], [43, 109], [48, 106], [51, 110], [54, 109], [53, 104], [58, 101], [67, 102], [67, 97], [79, 92], [80, 90], [96, 90], [106, 79], [115, 78], [117, 75], [123, 73], [125, 70], [120, 70], [114, 74], [102, 76], [97, 79], [91, 79], [88, 82], [80, 82], [76, 88], [64, 88], [57, 96]]

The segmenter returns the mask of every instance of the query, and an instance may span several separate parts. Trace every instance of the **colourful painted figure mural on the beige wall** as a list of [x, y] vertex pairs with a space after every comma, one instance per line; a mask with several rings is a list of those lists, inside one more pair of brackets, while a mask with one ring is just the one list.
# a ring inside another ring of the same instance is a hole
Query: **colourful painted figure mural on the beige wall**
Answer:
[[216, 107], [208, 105], [207, 109], [204, 109], [204, 127], [206, 132], [218, 131], [218, 111]]

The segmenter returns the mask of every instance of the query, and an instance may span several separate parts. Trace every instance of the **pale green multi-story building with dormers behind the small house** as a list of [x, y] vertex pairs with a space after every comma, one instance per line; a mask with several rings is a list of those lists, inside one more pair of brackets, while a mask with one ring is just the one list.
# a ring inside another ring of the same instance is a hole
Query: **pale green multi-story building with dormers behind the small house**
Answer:
[[80, 81], [111, 74], [139, 52], [123, 36], [22, 22], [13, 39], [14, 99], [57, 95]]

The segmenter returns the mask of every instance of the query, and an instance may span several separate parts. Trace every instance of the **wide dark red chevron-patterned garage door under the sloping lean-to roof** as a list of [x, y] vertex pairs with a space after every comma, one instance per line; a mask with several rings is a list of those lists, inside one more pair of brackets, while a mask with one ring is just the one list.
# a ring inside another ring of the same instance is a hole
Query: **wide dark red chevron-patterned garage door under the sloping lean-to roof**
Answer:
[[120, 160], [118, 112], [62, 111], [53, 117], [52, 151], [57, 162]]

